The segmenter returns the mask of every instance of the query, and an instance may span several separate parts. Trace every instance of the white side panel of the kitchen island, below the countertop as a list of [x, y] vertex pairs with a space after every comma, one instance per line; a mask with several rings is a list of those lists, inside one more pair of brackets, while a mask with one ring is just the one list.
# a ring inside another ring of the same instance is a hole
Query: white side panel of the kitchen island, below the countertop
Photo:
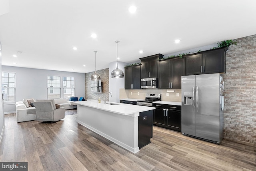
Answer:
[[78, 105], [78, 123], [132, 153], [139, 151], [138, 115], [138, 113], [120, 115], [110, 111]]

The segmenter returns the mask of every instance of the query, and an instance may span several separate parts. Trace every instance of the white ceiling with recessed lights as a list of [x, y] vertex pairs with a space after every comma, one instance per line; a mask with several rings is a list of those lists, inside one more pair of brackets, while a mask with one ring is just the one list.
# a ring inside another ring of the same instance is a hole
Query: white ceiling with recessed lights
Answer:
[[96, 70], [116, 60], [115, 40], [120, 61], [132, 63], [254, 35], [255, 9], [254, 0], [9, 0], [0, 16], [2, 65], [92, 72], [94, 50]]

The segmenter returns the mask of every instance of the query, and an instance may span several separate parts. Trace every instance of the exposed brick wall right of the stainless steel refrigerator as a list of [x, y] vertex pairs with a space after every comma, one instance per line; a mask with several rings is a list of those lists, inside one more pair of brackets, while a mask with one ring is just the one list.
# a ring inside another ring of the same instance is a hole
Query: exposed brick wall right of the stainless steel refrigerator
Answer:
[[256, 143], [256, 35], [226, 52], [224, 138]]

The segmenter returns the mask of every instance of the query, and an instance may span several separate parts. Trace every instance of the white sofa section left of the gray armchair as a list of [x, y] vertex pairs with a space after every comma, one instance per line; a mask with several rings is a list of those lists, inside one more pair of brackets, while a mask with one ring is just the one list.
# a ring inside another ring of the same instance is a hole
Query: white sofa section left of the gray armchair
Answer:
[[22, 101], [16, 102], [16, 119], [17, 122], [36, 120], [36, 108], [26, 107]]

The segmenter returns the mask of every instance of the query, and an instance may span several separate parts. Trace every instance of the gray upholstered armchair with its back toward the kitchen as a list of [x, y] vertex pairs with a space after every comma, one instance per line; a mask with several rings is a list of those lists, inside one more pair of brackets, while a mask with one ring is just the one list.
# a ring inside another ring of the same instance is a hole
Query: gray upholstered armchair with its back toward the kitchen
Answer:
[[54, 99], [36, 99], [37, 121], [59, 121], [65, 117], [65, 109], [61, 107], [56, 109]]

